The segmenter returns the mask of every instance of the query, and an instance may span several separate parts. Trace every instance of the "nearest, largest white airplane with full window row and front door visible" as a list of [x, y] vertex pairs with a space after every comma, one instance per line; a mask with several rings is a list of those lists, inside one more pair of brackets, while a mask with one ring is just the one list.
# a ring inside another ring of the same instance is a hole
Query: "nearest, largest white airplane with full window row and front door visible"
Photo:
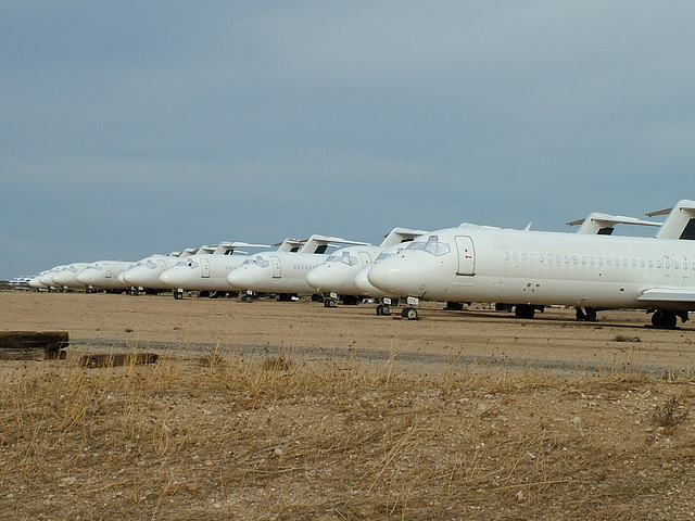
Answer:
[[[681, 201], [660, 232], [686, 239], [694, 220], [695, 201]], [[410, 304], [515, 303], [522, 318], [557, 304], [581, 308], [589, 320], [596, 309], [644, 308], [655, 327], [674, 328], [695, 310], [695, 242], [463, 225], [416, 239], [367, 277]], [[414, 307], [402, 315], [418, 318]]]

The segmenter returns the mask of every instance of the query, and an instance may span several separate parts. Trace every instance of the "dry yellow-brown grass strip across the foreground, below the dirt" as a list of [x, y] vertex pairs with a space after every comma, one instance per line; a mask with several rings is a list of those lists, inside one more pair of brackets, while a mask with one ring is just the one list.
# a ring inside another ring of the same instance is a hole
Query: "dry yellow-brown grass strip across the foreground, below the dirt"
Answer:
[[[0, 373], [0, 519], [683, 519], [687, 379], [298, 357]], [[667, 402], [668, 403], [668, 402]], [[666, 412], [665, 412], [666, 414]], [[672, 415], [672, 416], [673, 416]]]

